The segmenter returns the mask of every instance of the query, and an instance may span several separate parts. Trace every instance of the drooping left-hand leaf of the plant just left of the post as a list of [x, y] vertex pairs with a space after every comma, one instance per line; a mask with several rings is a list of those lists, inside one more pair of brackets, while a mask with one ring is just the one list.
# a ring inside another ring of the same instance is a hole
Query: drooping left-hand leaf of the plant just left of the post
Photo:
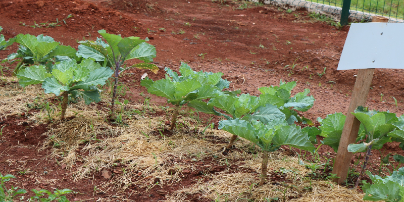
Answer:
[[258, 143], [256, 129], [246, 121], [234, 119], [219, 121], [219, 129], [225, 130], [251, 142]]

